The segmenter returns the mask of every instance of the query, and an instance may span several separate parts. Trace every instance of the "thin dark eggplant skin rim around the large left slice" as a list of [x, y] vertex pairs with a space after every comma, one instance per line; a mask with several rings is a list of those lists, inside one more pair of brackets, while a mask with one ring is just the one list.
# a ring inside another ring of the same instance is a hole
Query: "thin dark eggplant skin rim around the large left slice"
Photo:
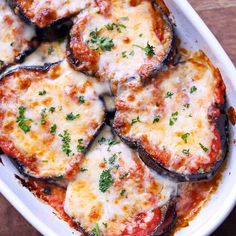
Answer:
[[[31, 70], [31, 71], [40, 71], [40, 72], [48, 72], [50, 70], [51, 67], [58, 65], [62, 63], [62, 61], [58, 61], [58, 62], [54, 62], [54, 63], [45, 63], [43, 66], [18, 66], [17, 68], [14, 68], [12, 70], [9, 70], [7, 73], [3, 73], [0, 76], [0, 80], [2, 80], [4, 77], [11, 75], [12, 73], [14, 73], [15, 71], [18, 70]], [[106, 120], [107, 120], [107, 112], [105, 109], [105, 104], [104, 101], [99, 97], [99, 99], [102, 101], [103, 106], [104, 106], [104, 120], [101, 123], [101, 125], [97, 128], [96, 133], [94, 134], [93, 138], [90, 140], [89, 144], [85, 147], [84, 151], [82, 152], [82, 154], [85, 154], [89, 151], [92, 143], [94, 142], [94, 140], [97, 138], [97, 136], [99, 135], [99, 133], [101, 132], [101, 130], [103, 129]], [[1, 152], [4, 154], [4, 152], [2, 151], [2, 149], [0, 148]], [[7, 155], [8, 156], [8, 155]], [[25, 177], [30, 177], [32, 179], [40, 179], [40, 180], [45, 180], [48, 182], [58, 182], [61, 181], [63, 179], [63, 176], [51, 176], [51, 177], [35, 177], [29, 173], [27, 173], [27, 168], [20, 162], [18, 161], [16, 158], [12, 157], [12, 156], [8, 156], [11, 161], [13, 162], [13, 164], [15, 165], [15, 167], [17, 168], [17, 170], [19, 171], [19, 173]]]

